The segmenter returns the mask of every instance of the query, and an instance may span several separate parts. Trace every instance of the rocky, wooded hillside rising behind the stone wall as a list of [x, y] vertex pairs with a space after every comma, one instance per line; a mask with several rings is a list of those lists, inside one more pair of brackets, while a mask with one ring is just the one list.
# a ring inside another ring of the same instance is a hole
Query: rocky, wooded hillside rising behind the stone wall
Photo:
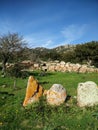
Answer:
[[[98, 41], [58, 46], [52, 49], [44, 47], [25, 48], [18, 55], [17, 61], [30, 60], [32, 62], [41, 62], [59, 60], [80, 64], [90, 63], [90, 65], [98, 68]], [[13, 60], [9, 58], [9, 62], [15, 62]], [[1, 57], [0, 61], [2, 61]]]

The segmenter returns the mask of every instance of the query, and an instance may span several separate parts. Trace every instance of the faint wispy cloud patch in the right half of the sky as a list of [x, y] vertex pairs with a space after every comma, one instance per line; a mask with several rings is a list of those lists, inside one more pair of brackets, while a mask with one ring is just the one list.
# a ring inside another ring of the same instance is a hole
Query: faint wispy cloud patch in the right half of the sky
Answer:
[[71, 42], [74, 42], [84, 36], [87, 30], [87, 25], [69, 25], [66, 28], [64, 28], [61, 33], [65, 40], [63, 41], [63, 44], [69, 44]]

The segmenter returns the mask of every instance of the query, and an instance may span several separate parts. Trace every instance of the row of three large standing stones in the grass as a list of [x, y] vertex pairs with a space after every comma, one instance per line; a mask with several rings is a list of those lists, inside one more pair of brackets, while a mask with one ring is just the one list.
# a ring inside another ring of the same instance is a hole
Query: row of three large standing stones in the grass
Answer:
[[[26, 88], [26, 95], [23, 106], [39, 101], [41, 96], [46, 96], [46, 101], [50, 105], [60, 105], [67, 99], [65, 87], [61, 84], [53, 84], [50, 89], [44, 90], [38, 81], [30, 76]], [[90, 107], [98, 105], [98, 87], [93, 81], [79, 83], [77, 87], [77, 105], [79, 107]]]

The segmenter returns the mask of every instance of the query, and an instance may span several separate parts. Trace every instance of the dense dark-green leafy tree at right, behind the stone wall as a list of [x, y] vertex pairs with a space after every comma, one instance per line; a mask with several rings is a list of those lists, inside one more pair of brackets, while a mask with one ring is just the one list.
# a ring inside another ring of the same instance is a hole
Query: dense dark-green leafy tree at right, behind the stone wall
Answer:
[[76, 61], [83, 63], [84, 61], [98, 67], [98, 42], [92, 41], [85, 44], [78, 44], [75, 48]]

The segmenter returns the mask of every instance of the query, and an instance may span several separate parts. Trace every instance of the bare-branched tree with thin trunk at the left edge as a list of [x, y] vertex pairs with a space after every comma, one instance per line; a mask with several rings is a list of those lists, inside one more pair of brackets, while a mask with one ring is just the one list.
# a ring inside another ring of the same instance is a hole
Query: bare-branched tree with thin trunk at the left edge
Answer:
[[8, 33], [0, 36], [0, 56], [2, 59], [2, 73], [6, 72], [6, 63], [8, 60], [17, 55], [18, 52], [25, 46], [25, 41], [18, 33]]

